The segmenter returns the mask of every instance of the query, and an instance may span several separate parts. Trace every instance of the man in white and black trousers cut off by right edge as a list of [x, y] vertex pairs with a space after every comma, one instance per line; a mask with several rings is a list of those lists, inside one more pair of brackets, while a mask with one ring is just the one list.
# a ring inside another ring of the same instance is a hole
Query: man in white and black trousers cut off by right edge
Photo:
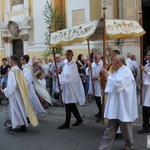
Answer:
[[150, 132], [150, 51], [147, 54], [147, 64], [145, 66], [140, 65], [141, 70], [143, 71], [142, 74], [142, 115], [143, 115], [143, 129], [138, 131], [139, 134], [148, 133]]

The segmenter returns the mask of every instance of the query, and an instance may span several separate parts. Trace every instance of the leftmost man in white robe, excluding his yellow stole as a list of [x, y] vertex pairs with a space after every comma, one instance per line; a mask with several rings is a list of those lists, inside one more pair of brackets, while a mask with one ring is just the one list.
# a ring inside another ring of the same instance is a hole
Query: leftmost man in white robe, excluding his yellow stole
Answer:
[[5, 96], [9, 99], [9, 119], [12, 124], [12, 129], [21, 126], [20, 131], [26, 132], [27, 113], [22, 100], [20, 89], [18, 87], [15, 73], [13, 70], [18, 70], [17, 56], [11, 56], [11, 70], [8, 73], [7, 87], [2, 90]]

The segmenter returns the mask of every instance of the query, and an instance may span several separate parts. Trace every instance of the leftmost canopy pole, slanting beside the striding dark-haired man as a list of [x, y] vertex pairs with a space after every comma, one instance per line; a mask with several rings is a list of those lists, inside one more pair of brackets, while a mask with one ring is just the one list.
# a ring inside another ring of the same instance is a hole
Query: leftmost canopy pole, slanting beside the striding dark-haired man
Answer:
[[[55, 63], [55, 67], [57, 67], [57, 63], [56, 63], [56, 58], [55, 58], [55, 49], [53, 48], [53, 57], [54, 57], [54, 63]], [[58, 73], [56, 73], [56, 77], [57, 77], [57, 82], [58, 82], [58, 88], [59, 88], [59, 100], [60, 100], [60, 104], [61, 106], [63, 107], [63, 101], [62, 101], [62, 90], [61, 90], [61, 87], [60, 87], [60, 81], [59, 81], [59, 75]]]

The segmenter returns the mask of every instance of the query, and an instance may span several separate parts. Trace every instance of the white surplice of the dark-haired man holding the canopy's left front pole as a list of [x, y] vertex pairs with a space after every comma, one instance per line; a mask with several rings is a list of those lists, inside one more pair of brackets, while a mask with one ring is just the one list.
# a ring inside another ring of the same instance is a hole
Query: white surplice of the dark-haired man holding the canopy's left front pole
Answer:
[[63, 90], [63, 102], [65, 104], [79, 102], [80, 105], [84, 105], [85, 92], [78, 73], [77, 65], [73, 60], [63, 67], [59, 79]]

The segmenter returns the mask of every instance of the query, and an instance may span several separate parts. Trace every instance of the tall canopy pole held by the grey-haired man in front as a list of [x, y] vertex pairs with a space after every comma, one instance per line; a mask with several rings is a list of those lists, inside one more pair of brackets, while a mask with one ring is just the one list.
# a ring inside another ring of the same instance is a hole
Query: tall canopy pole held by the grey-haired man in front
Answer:
[[[106, 15], [105, 11], [107, 7], [102, 7], [103, 9], [103, 67], [105, 68], [106, 63]], [[102, 89], [105, 88], [105, 77], [102, 76], [101, 80]], [[102, 96], [102, 123], [104, 124], [104, 109], [105, 109], [105, 94]]]

